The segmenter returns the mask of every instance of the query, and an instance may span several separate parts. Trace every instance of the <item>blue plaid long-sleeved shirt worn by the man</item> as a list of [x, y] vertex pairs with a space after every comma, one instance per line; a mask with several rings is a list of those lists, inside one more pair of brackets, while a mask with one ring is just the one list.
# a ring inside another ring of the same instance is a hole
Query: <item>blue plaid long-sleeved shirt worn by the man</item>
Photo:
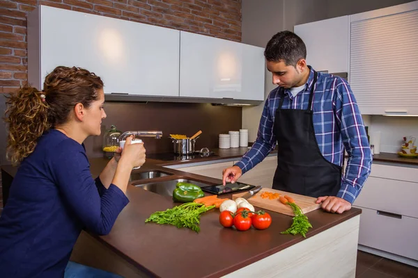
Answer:
[[[281, 108], [304, 110], [308, 108], [309, 93], [314, 81], [314, 70], [309, 68], [311, 73], [304, 90], [293, 97], [291, 91], [286, 89]], [[339, 166], [343, 164], [345, 147], [348, 163], [346, 173], [341, 179], [341, 188], [336, 196], [353, 203], [370, 174], [372, 161], [362, 115], [350, 85], [344, 79], [318, 72], [318, 81], [314, 89], [312, 109], [318, 147], [327, 161]], [[274, 149], [277, 143], [273, 133], [274, 116], [280, 98], [277, 87], [270, 92], [265, 101], [256, 142], [235, 164], [241, 168], [242, 174], [263, 161]]]

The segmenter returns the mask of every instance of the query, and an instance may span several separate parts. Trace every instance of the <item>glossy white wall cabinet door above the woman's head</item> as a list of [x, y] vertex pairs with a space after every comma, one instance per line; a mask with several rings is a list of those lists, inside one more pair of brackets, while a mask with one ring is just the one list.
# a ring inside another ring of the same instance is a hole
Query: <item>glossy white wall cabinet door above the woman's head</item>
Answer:
[[[100, 76], [106, 93], [178, 97], [180, 31], [48, 6], [39, 8], [40, 73], [36, 79], [41, 84], [56, 66], [77, 66]], [[29, 24], [32, 22], [36, 22], [33, 16], [29, 18]], [[29, 26], [29, 30], [33, 28]]]

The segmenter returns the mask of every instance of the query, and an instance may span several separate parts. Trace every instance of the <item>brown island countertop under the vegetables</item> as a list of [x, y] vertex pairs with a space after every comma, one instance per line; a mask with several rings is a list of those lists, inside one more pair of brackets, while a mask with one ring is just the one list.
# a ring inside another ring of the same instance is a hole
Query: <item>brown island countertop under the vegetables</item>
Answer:
[[[90, 160], [93, 177], [100, 174], [107, 161], [104, 158]], [[173, 174], [157, 178], [160, 181], [187, 177], [208, 184], [221, 182], [219, 179], [161, 167], [158, 163], [160, 161], [148, 159], [146, 164], [135, 172], [164, 170]], [[2, 168], [14, 176], [13, 167]], [[149, 181], [142, 180], [141, 183]], [[171, 197], [157, 195], [134, 186], [128, 186], [127, 197], [130, 203], [118, 215], [110, 234], [95, 238], [151, 277], [185, 277], [185, 273], [188, 277], [220, 277], [304, 240], [302, 236], [280, 234], [291, 226], [292, 217], [274, 212], [269, 212], [272, 225], [263, 231], [251, 228], [249, 231], [240, 232], [223, 228], [218, 222], [217, 209], [201, 215], [199, 234], [171, 225], [145, 223], [151, 213], [164, 211], [176, 204]], [[326, 213], [320, 209], [307, 213], [313, 226], [307, 238], [360, 213], [361, 210], [358, 208], [352, 208], [341, 215]]]

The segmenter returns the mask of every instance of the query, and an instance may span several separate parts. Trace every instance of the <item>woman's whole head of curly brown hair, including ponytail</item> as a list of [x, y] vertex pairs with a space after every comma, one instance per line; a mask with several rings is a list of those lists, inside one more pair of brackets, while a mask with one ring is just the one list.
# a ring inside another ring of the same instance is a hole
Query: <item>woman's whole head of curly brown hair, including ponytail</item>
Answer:
[[85, 107], [98, 100], [102, 79], [79, 67], [56, 67], [45, 77], [43, 90], [25, 85], [7, 97], [6, 155], [13, 165], [29, 156], [45, 131], [65, 124], [78, 103]]

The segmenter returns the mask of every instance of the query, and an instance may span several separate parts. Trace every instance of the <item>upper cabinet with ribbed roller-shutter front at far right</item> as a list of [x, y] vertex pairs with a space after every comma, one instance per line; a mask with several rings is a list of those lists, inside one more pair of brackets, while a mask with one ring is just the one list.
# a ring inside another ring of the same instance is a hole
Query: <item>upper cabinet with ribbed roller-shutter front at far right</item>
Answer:
[[350, 85], [360, 111], [418, 115], [418, 1], [350, 22]]

